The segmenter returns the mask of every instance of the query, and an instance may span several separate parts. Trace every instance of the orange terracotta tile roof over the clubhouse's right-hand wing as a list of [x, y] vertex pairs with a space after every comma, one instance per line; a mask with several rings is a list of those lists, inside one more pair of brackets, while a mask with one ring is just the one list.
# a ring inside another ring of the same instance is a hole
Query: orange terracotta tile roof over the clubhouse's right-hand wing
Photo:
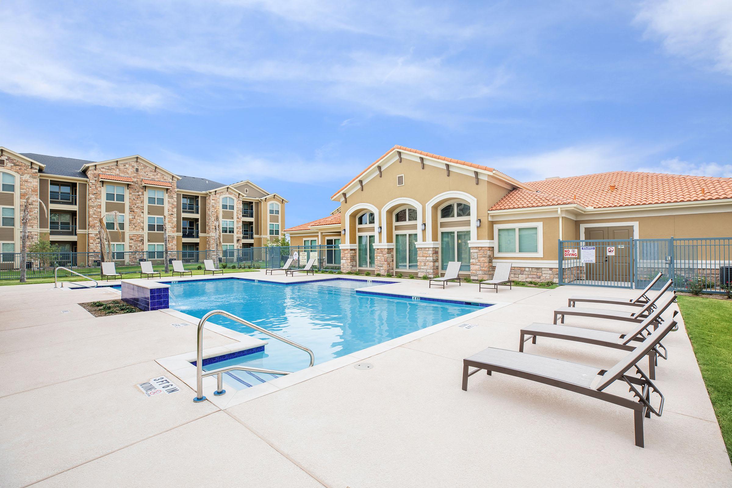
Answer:
[[531, 181], [536, 192], [515, 189], [490, 210], [578, 203], [595, 209], [654, 203], [678, 203], [732, 198], [732, 178], [663, 173], [611, 171], [569, 178]]

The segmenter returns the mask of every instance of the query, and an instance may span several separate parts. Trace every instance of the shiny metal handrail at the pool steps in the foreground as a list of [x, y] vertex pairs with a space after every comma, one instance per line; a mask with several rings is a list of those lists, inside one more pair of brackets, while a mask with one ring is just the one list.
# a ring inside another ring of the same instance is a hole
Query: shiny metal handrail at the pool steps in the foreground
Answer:
[[206, 324], [206, 320], [209, 320], [209, 318], [212, 318], [214, 315], [223, 315], [225, 318], [229, 318], [231, 320], [235, 320], [236, 322], [241, 323], [244, 326], [249, 327], [250, 329], [254, 329], [255, 331], [259, 331], [262, 334], [266, 334], [269, 337], [272, 337], [272, 339], [277, 339], [282, 342], [285, 342], [286, 344], [289, 344], [291, 346], [294, 346], [298, 349], [304, 350], [306, 353], [310, 355], [310, 366], [313, 366], [315, 364], [315, 355], [313, 354], [313, 351], [306, 348], [304, 345], [299, 345], [297, 342], [293, 342], [290, 339], [287, 339], [286, 337], [282, 337], [278, 334], [275, 334], [274, 332], [270, 332], [266, 329], [262, 329], [260, 326], [255, 326], [253, 323], [249, 322], [248, 320], [244, 320], [241, 317], [237, 317], [234, 314], [231, 314], [229, 312], [225, 312], [224, 310], [212, 310], [211, 312], [207, 313], [206, 315], [203, 315], [201, 320], [198, 321], [198, 338], [196, 339], [196, 356], [195, 356], [195, 387], [196, 387], [196, 396], [193, 399], [194, 402], [203, 402], [203, 400], [206, 399], [206, 397], [203, 396], [203, 378], [206, 378], [206, 376], [214, 376], [217, 377], [217, 389], [214, 391], [214, 395], [217, 397], [220, 395], [223, 395], [226, 393], [226, 390], [223, 388], [223, 374], [228, 371], [251, 371], [251, 372], [259, 372], [259, 373], [272, 373], [274, 375], [289, 375], [291, 374], [291, 371], [278, 371], [277, 369], [263, 369], [263, 368], [255, 368], [255, 367], [247, 367], [247, 366], [228, 366], [225, 368], [220, 369], [214, 369], [213, 371], [207, 371], [203, 372], [203, 326]]

